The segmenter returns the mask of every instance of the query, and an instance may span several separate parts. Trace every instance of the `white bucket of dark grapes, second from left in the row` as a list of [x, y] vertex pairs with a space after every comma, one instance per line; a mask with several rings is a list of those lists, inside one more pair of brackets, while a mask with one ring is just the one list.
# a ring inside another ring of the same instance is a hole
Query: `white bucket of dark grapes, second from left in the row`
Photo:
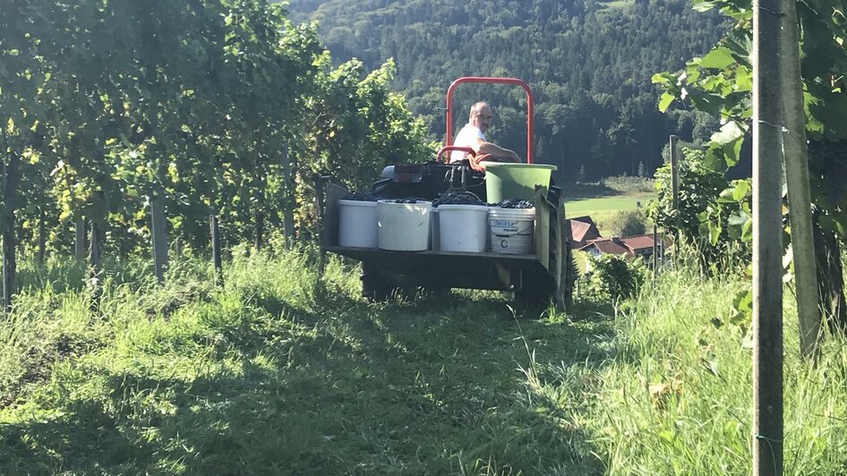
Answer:
[[380, 200], [376, 206], [377, 246], [390, 251], [424, 251], [430, 247], [432, 202], [396, 203]]

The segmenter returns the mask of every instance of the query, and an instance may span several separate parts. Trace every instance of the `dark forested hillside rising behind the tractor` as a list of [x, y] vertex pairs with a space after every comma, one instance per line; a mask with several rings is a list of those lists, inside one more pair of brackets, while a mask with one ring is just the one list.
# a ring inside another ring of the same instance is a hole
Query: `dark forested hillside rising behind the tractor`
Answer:
[[[336, 61], [356, 57], [370, 69], [395, 58], [394, 87], [439, 140], [450, 81], [526, 80], [535, 92], [535, 156], [560, 166], [560, 178], [652, 174], [669, 134], [702, 138], [714, 125], [656, 109], [653, 73], [705, 54], [725, 29], [716, 13], [696, 13], [684, 0], [292, 0], [289, 12], [319, 21]], [[458, 126], [480, 98], [497, 115], [490, 137], [525, 149], [523, 92], [464, 86]]]

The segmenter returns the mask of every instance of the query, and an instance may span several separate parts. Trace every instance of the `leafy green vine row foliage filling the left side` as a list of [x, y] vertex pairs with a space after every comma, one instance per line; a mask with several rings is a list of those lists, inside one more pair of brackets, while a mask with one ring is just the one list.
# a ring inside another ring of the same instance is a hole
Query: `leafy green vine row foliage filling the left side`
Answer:
[[[390, 91], [393, 64], [334, 67], [313, 26], [262, 0], [0, 0], [0, 228], [67, 250], [85, 218], [142, 250], [150, 200], [193, 248], [210, 213], [230, 242], [312, 201], [432, 155]], [[39, 234], [42, 232], [38, 232]]]

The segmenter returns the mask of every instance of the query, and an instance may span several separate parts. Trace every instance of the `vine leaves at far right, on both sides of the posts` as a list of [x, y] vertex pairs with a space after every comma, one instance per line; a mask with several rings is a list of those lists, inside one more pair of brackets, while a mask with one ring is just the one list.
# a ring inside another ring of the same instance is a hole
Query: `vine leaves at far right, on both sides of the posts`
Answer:
[[[805, 129], [810, 140], [809, 175], [811, 201], [815, 210], [816, 255], [819, 304], [832, 320], [845, 327], [847, 306], [831, 306], [827, 302], [844, 302], [843, 270], [840, 248], [847, 236], [847, 187], [841, 174], [843, 160], [835, 152], [847, 143], [847, 21], [842, 0], [797, 2], [800, 31], [800, 76], [802, 81]], [[654, 75], [654, 82], [664, 89], [660, 107], [665, 110], [679, 101], [721, 117], [722, 127], [712, 135], [706, 148], [706, 165], [723, 172], [738, 162], [739, 151], [751, 129], [753, 71], [751, 64], [753, 13], [749, 0], [697, 0], [699, 11], [719, 9], [731, 18], [729, 33], [703, 57], [695, 57], [680, 72]], [[791, 133], [784, 124], [781, 133]], [[749, 189], [749, 187], [748, 187]], [[736, 200], [740, 187], [723, 191], [721, 199]], [[743, 210], [749, 216], [748, 210]], [[749, 227], [749, 217], [738, 218]], [[729, 222], [732, 225], [732, 222]], [[786, 232], [790, 234], [790, 228]], [[746, 234], [742, 238], [748, 238]], [[788, 242], [787, 240], [784, 242]], [[786, 253], [791, 269], [791, 253]], [[835, 259], [833, 259], [833, 257]], [[841, 283], [838, 289], [826, 283]], [[828, 288], [827, 288], [828, 287]], [[743, 292], [742, 292], [743, 293]]]

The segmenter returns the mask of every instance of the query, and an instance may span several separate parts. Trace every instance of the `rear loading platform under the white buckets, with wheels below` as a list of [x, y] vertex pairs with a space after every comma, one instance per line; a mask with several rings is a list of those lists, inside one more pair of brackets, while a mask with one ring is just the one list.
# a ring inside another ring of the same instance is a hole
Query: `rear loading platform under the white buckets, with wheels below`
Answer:
[[363, 263], [363, 293], [372, 300], [396, 290], [447, 288], [513, 291], [522, 305], [569, 305], [573, 292], [570, 230], [560, 192], [535, 190], [534, 252], [441, 251], [438, 220], [433, 220], [430, 250], [385, 251], [338, 245], [338, 200], [347, 190], [329, 183], [322, 215], [321, 249]]

